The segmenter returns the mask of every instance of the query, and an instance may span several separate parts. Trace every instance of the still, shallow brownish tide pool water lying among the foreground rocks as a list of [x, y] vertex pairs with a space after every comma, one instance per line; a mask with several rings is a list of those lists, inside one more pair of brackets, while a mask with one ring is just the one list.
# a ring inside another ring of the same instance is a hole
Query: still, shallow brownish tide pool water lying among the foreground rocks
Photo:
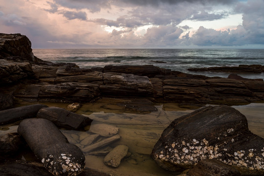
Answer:
[[[140, 110], [135, 111], [127, 109], [126, 102], [120, 99], [103, 99], [96, 103], [87, 103], [76, 113], [88, 115], [93, 119], [93, 124], [103, 123], [113, 125], [119, 128], [118, 134], [121, 139], [118, 142], [109, 145], [114, 148], [119, 144], [129, 146], [131, 155], [124, 158], [118, 168], [110, 168], [103, 163], [104, 156], [94, 154], [85, 154], [88, 168], [101, 172], [112, 174], [114, 176], [173, 176], [161, 169], [150, 157], [154, 144], [159, 139], [163, 130], [175, 119], [193, 110], [181, 109], [177, 104], [155, 105], [156, 111], [149, 112]], [[44, 103], [48, 106], [57, 106], [66, 108], [65, 103]], [[22, 105], [22, 104], [21, 104]], [[150, 105], [152, 106], [152, 105]], [[248, 126], [251, 132], [264, 137], [264, 104], [252, 103], [244, 106], [233, 106], [244, 114], [248, 120]], [[0, 135], [6, 132], [16, 132], [17, 125], [12, 127], [1, 126]], [[81, 149], [80, 136], [84, 132], [67, 131], [62, 132], [68, 137], [69, 142], [77, 145]], [[104, 148], [102, 150], [109, 150]], [[102, 151], [101, 150], [101, 151]], [[99, 150], [100, 151], [100, 150]], [[30, 155], [30, 154], [29, 154]], [[24, 158], [30, 159], [28, 155]], [[32, 158], [31, 158], [32, 159]]]

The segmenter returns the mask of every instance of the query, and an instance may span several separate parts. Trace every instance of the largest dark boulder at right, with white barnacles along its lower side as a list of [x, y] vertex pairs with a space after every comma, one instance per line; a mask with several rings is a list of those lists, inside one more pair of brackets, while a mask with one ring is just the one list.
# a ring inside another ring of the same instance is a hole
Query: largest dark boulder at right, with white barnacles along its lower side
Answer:
[[169, 171], [216, 158], [242, 173], [264, 174], [264, 139], [248, 130], [238, 110], [209, 106], [175, 119], [155, 144], [152, 157]]

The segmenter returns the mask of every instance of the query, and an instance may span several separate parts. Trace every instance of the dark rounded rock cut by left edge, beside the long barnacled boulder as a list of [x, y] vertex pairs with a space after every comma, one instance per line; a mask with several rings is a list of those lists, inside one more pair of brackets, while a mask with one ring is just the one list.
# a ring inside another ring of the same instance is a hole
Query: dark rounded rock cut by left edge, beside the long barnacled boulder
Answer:
[[0, 155], [17, 154], [24, 146], [24, 141], [18, 133], [7, 133], [0, 136]]

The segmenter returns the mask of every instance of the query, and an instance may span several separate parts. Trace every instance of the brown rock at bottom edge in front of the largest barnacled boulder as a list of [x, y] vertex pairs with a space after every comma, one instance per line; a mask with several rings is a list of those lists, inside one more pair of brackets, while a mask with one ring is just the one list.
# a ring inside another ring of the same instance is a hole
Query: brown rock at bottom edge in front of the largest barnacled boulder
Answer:
[[203, 159], [188, 172], [187, 176], [241, 176], [241, 174], [217, 159]]

